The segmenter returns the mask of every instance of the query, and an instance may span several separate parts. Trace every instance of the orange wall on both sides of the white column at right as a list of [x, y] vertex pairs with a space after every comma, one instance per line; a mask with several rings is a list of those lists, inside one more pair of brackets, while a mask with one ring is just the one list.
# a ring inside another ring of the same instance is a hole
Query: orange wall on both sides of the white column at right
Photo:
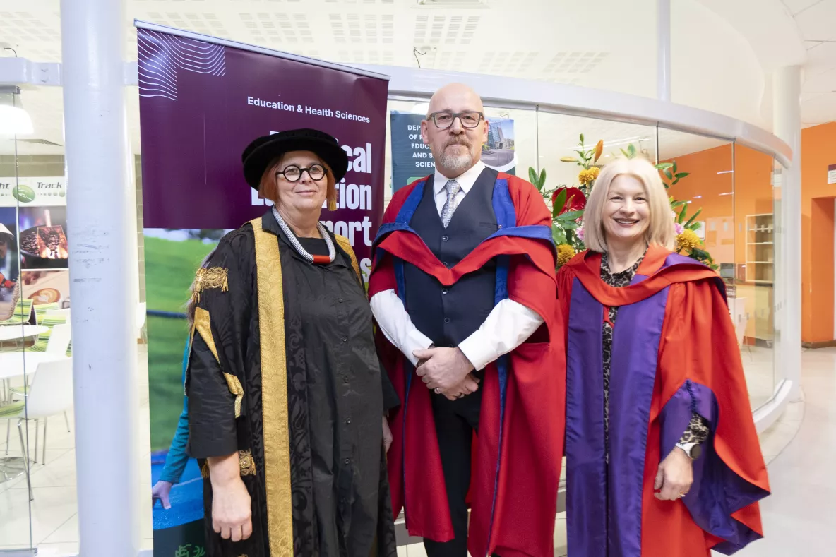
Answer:
[[[833, 202], [836, 184], [827, 183], [828, 165], [836, 164], [836, 122], [802, 131], [802, 340], [834, 340]], [[680, 171], [691, 172], [673, 187], [671, 195], [691, 201], [689, 213], [702, 207], [706, 221], [706, 248], [717, 263], [746, 262], [746, 216], [772, 213], [772, 157], [744, 146], [732, 145], [676, 157]], [[724, 230], [734, 218], [732, 237]], [[713, 223], [714, 230], [711, 230]], [[815, 255], [813, 255], [815, 254]], [[767, 301], [758, 300], [758, 307]], [[748, 335], [748, 333], [747, 333]]]

